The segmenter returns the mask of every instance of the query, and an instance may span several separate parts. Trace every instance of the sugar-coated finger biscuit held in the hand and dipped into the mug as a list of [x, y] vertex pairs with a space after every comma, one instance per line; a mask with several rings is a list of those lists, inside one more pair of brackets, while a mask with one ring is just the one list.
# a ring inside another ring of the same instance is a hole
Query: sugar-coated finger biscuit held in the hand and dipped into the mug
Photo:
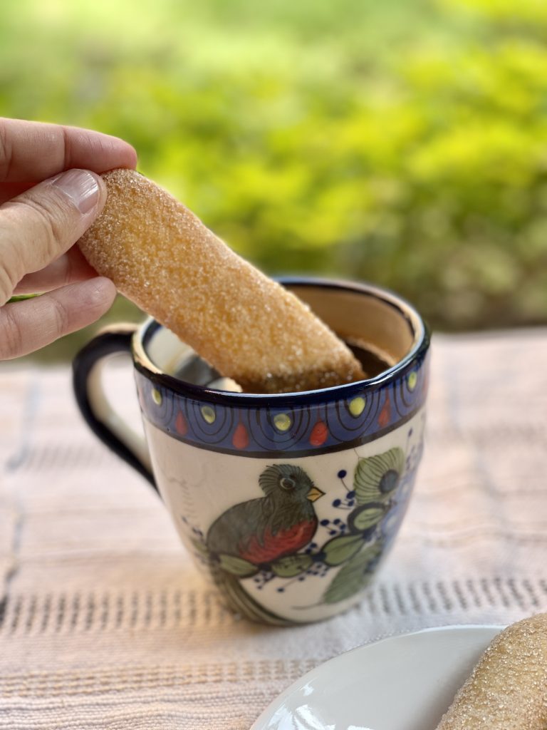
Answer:
[[351, 350], [282, 286], [132, 170], [79, 247], [99, 274], [247, 392], [327, 388], [365, 377]]

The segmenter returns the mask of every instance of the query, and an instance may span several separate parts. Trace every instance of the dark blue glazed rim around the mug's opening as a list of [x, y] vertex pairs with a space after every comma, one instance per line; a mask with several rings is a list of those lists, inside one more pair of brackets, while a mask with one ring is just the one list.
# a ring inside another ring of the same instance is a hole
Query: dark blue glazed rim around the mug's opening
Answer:
[[233, 391], [221, 391], [215, 388], [208, 388], [203, 385], [188, 383], [186, 380], [163, 372], [147, 355], [147, 345], [158, 329], [163, 328], [154, 318], [148, 318], [133, 334], [131, 349], [133, 351], [133, 364], [135, 368], [152, 383], [163, 385], [169, 391], [174, 391], [182, 396], [193, 398], [197, 401], [212, 402], [228, 407], [294, 407], [306, 404], [317, 404], [319, 402], [338, 401], [340, 399], [351, 399], [352, 396], [362, 391], [374, 391], [381, 388], [385, 383], [394, 380], [406, 371], [412, 369], [416, 361], [421, 360], [430, 347], [430, 328], [419, 312], [403, 297], [387, 288], [365, 282], [356, 282], [342, 279], [327, 279], [322, 277], [278, 277], [280, 284], [287, 287], [314, 287], [335, 289], [340, 291], [354, 291], [356, 293], [371, 296], [374, 299], [389, 304], [405, 319], [414, 333], [414, 345], [406, 356], [401, 358], [395, 365], [384, 370], [375, 377], [365, 380], [355, 380], [352, 383], [333, 385], [330, 388], [322, 388], [314, 391], [300, 391], [297, 393], [237, 393]]

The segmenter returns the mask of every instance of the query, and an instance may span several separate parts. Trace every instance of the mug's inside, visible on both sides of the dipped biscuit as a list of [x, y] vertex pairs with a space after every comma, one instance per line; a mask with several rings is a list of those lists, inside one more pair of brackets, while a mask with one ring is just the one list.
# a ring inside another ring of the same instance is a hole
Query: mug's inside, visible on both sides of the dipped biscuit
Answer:
[[[369, 350], [387, 364], [387, 369], [410, 356], [424, 336], [417, 312], [405, 301], [379, 288], [318, 280], [282, 283], [309, 304], [338, 337], [350, 346]], [[143, 345], [147, 357], [160, 372], [193, 385], [238, 390], [236, 383], [220, 377], [189, 345], [164, 327], [150, 331]]]

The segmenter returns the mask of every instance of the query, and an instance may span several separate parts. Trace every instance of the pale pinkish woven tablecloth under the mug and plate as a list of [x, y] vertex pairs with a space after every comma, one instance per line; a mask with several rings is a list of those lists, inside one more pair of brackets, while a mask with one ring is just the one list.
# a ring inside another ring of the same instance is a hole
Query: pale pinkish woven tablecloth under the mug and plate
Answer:
[[[138, 420], [128, 366], [115, 401]], [[82, 422], [68, 368], [0, 366], [0, 727], [243, 730], [377, 637], [547, 610], [547, 330], [434, 338], [411, 507], [360, 606], [237, 621], [144, 480]]]

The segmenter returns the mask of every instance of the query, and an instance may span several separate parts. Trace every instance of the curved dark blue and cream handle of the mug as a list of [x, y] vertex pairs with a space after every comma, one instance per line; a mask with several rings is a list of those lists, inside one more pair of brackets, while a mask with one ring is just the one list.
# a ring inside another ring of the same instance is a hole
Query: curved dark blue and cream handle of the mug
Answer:
[[102, 383], [106, 360], [119, 353], [131, 355], [131, 340], [138, 328], [136, 324], [106, 327], [82, 347], [72, 362], [72, 386], [79, 410], [93, 433], [158, 491], [144, 436], [115, 412]]

